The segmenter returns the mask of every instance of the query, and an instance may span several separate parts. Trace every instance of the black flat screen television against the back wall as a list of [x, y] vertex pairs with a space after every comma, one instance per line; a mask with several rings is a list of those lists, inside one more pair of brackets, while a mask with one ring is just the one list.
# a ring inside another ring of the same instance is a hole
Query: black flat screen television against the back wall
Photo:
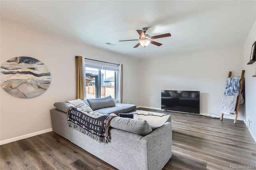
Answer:
[[200, 92], [161, 90], [161, 109], [200, 114]]

